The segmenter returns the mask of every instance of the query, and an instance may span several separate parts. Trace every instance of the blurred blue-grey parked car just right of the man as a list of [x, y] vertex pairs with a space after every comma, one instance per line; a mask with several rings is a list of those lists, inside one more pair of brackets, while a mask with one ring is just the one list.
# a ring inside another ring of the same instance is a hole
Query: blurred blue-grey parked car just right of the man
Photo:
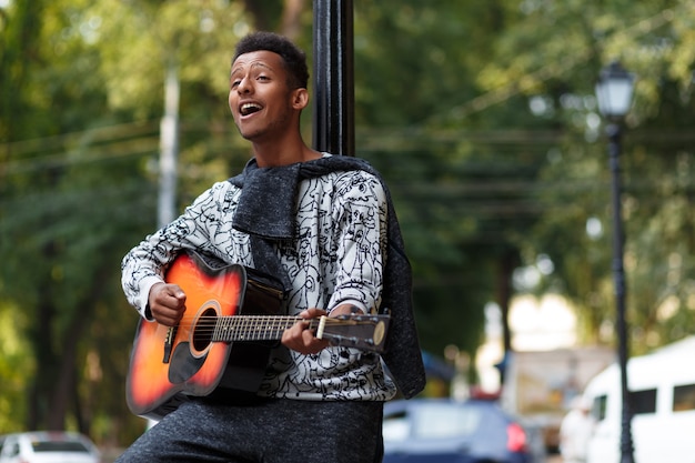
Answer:
[[495, 401], [412, 399], [384, 405], [384, 463], [540, 463], [541, 436]]

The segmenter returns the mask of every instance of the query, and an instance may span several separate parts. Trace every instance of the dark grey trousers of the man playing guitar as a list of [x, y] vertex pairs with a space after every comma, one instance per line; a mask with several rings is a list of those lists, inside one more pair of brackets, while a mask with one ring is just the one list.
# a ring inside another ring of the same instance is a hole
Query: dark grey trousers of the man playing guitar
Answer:
[[117, 463], [379, 463], [382, 402], [182, 404]]

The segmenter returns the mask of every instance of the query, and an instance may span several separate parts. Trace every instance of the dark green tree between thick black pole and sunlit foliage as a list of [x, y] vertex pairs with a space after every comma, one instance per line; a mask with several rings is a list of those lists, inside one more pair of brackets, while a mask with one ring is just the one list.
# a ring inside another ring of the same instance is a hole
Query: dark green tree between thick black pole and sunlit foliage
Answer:
[[[483, 306], [508, 308], [521, 231], [540, 213], [533, 191], [515, 187], [533, 182], [543, 158], [498, 130], [542, 127], [514, 115], [525, 101], [471, 118], [457, 109], [480, 95], [477, 70], [494, 50], [487, 31], [501, 33], [513, 10], [441, 0], [360, 2], [356, 11], [357, 147], [402, 204], [423, 344], [474, 354]], [[507, 330], [507, 348], [508, 339]]]

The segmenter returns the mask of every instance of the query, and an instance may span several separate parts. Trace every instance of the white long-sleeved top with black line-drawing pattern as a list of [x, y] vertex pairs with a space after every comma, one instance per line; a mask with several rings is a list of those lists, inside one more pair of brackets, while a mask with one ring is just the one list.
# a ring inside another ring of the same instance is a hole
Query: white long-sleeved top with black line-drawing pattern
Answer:
[[[241, 192], [229, 181], [215, 183], [181, 217], [123, 258], [123, 290], [142, 316], [149, 315], [150, 289], [162, 281], [167, 265], [181, 250], [255, 266], [250, 235], [233, 227]], [[289, 314], [308, 308], [330, 312], [341, 303], [374, 311], [381, 303], [387, 240], [381, 181], [363, 170], [336, 171], [301, 180], [295, 198], [294, 238], [274, 244], [292, 283]], [[383, 401], [395, 394], [395, 385], [384, 374], [377, 354], [329, 348], [303, 355], [279, 346], [271, 353], [258, 394]]]

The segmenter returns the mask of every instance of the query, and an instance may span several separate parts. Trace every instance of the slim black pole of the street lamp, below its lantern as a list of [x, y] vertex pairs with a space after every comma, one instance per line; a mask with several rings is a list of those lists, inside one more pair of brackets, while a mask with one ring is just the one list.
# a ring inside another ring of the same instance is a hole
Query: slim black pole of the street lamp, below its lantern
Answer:
[[621, 463], [634, 462], [632, 440], [632, 412], [629, 410], [629, 391], [627, 389], [627, 321], [625, 320], [625, 269], [623, 266], [623, 221], [621, 203], [621, 127], [610, 123], [608, 154], [612, 174], [613, 200], [613, 279], [615, 284], [615, 303], [618, 338], [618, 363], [621, 368]]

